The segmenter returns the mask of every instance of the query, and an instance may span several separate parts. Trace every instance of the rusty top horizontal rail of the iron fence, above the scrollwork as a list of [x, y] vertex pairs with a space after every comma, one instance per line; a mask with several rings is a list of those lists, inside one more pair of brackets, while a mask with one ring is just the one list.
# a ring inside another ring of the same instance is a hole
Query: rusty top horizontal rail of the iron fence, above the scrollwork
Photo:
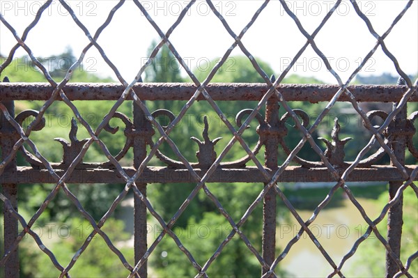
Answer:
[[[213, 100], [261, 100], [268, 86], [261, 83], [212, 83], [206, 86]], [[123, 85], [117, 83], [70, 83], [63, 90], [70, 100], [118, 100]], [[141, 100], [189, 100], [197, 87], [189, 83], [138, 83], [134, 91]], [[277, 89], [287, 101], [330, 101], [338, 85], [279, 84]], [[357, 102], [397, 102], [408, 91], [408, 86], [353, 85], [348, 86]], [[0, 83], [0, 101], [48, 100], [53, 88], [48, 83]], [[132, 97], [128, 96], [128, 100]], [[201, 95], [198, 100], [204, 100]], [[338, 101], [348, 101], [342, 94]], [[418, 92], [409, 102], [418, 102]]]

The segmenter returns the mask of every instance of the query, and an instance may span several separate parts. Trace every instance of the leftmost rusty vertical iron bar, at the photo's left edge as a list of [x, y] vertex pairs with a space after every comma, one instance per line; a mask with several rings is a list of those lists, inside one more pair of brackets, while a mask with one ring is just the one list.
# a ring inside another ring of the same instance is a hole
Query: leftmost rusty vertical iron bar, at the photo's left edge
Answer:
[[[7, 79], [3, 80], [8, 81]], [[10, 116], [15, 116], [15, 103], [13, 100], [3, 102], [3, 105], [8, 109]], [[13, 150], [15, 144], [15, 138], [13, 134], [16, 134], [16, 130], [6, 120], [3, 113], [0, 116], [1, 119], [1, 158], [3, 159]], [[16, 160], [13, 160], [6, 166], [4, 173], [16, 171]], [[10, 200], [13, 208], [17, 211], [17, 184], [15, 183], [3, 183], [3, 195]], [[4, 224], [4, 252], [8, 252], [17, 238], [17, 219], [8, 213], [6, 204], [3, 203], [3, 224]], [[19, 273], [19, 254], [17, 249], [10, 252], [9, 258], [4, 265], [4, 277], [18, 278]]]

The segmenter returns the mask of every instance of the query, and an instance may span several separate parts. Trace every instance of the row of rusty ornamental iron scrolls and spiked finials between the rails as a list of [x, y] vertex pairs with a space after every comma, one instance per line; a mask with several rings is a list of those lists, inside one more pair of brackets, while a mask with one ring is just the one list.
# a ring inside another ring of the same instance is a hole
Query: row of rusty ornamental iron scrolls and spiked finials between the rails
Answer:
[[[245, 116], [248, 116], [251, 114], [253, 109], [243, 109], [240, 111], [237, 116], [235, 117], [236, 124], [240, 127], [242, 125], [242, 121], [245, 118]], [[307, 128], [309, 125], [309, 116], [308, 114], [301, 110], [301, 109], [294, 109], [293, 110], [297, 116], [299, 116], [302, 119], [302, 125], [304, 128]], [[36, 117], [38, 116], [39, 112], [36, 110], [25, 110], [22, 111], [20, 114], [18, 114], [15, 117], [15, 121], [22, 125], [22, 123], [29, 118], [30, 116]], [[176, 118], [176, 116], [167, 109], [159, 109], [152, 113], [152, 116], [154, 118], [157, 118], [159, 116], [165, 116], [169, 119], [169, 124]], [[369, 118], [369, 121], [372, 121], [374, 118], [380, 118], [381, 120], [385, 121], [388, 114], [385, 111], [381, 110], [375, 110], [370, 111], [367, 114], [367, 117]], [[126, 137], [125, 145], [121, 149], [121, 151], [115, 156], [116, 161], [120, 161], [123, 157], [125, 157], [127, 151], [133, 147], [134, 144], [134, 137], [135, 136], [143, 136], [146, 137], [147, 144], [153, 148], [155, 146], [152, 136], [155, 134], [155, 132], [139, 132], [135, 130], [134, 124], [128, 118], [125, 114], [121, 112], [115, 112], [112, 118], [118, 118], [120, 119], [123, 124], [125, 125], [124, 128], [124, 134]], [[286, 155], [290, 155], [291, 148], [289, 148], [286, 145], [286, 141], [284, 140], [286, 136], [288, 135], [288, 128], [286, 127], [286, 121], [288, 121], [289, 118], [291, 118], [291, 115], [286, 112], [280, 120], [279, 125], [277, 128], [272, 128], [268, 123], [265, 121], [263, 116], [260, 113], [257, 113], [256, 121], [258, 121], [258, 126], [256, 128], [256, 133], [258, 134], [258, 141], [256, 143], [256, 146], [253, 148], [252, 153], [254, 155], [257, 155], [259, 151], [261, 150], [261, 147], [265, 145], [265, 140], [270, 137], [274, 136], [279, 139], [279, 144], [281, 148], [284, 150], [284, 153]], [[418, 111], [413, 112], [406, 124], [406, 128], [399, 129], [396, 128], [394, 121], [389, 124], [387, 128], [382, 132], [382, 135], [385, 137], [385, 144], [389, 147], [392, 147], [392, 142], [396, 141], [396, 138], [399, 136], [405, 136], [407, 137], [407, 146], [410, 150], [410, 153], [418, 159], [418, 150], [413, 144], [413, 137], [417, 130], [414, 127], [415, 120], [418, 118]], [[192, 141], [195, 141], [196, 144], [199, 145], [199, 151], [196, 153], [196, 157], [198, 162], [192, 162], [190, 163], [193, 168], [201, 168], [201, 169], [207, 169], [210, 167], [210, 165], [215, 162], [217, 158], [217, 154], [215, 152], [215, 144], [219, 140], [222, 139], [222, 137], [218, 137], [216, 139], [211, 140], [209, 138], [209, 124], [206, 116], [204, 117], [204, 128], [202, 132], [203, 141], [200, 139], [197, 139], [196, 137], [191, 137]], [[366, 123], [364, 123], [366, 125]], [[45, 128], [45, 118], [42, 118], [42, 121], [36, 125], [36, 127], [33, 128], [35, 131], [42, 130], [42, 128]], [[163, 126], [162, 128], [167, 128], [167, 126]], [[249, 125], [247, 126], [249, 128]], [[375, 126], [374, 128], [379, 128], [379, 126]], [[88, 141], [87, 139], [82, 139], [79, 141], [77, 139], [77, 122], [75, 118], [72, 118], [71, 121], [71, 130], [69, 134], [70, 142], [66, 141], [63, 138], [56, 138], [56, 141], [59, 141], [63, 145], [63, 161], [59, 164], [54, 163], [53, 166], [56, 169], [62, 169], [65, 167], [68, 167], [70, 163], [75, 159], [77, 154], [82, 150], [84, 144]], [[109, 123], [104, 126], [104, 130], [107, 132], [110, 132], [111, 134], [115, 134], [118, 132], [119, 127], [111, 127]], [[331, 138], [332, 140], [325, 139], [323, 137], [318, 137], [320, 141], [323, 141], [325, 143], [326, 149], [325, 149], [325, 157], [327, 157], [327, 160], [330, 161], [330, 163], [334, 167], [348, 167], [353, 162], [346, 162], [344, 161], [345, 152], [344, 148], [346, 147], [346, 144], [348, 141], [350, 141], [352, 138], [344, 138], [339, 139], [339, 132], [341, 131], [341, 125], [339, 124], [338, 118], [334, 119], [334, 128], [331, 132]], [[19, 136], [16, 133], [17, 138]], [[31, 164], [33, 168], [39, 169], [42, 168], [42, 162], [38, 160], [34, 155], [32, 155], [24, 146], [20, 148], [20, 153], [22, 153], [24, 159], [26, 162]], [[167, 155], [164, 155], [162, 151], [157, 150], [155, 153], [156, 157], [166, 164], [168, 167], [174, 168], [174, 169], [184, 169], [185, 165], [183, 162], [173, 160]], [[376, 150], [375, 153], [370, 155], [369, 157], [360, 160], [358, 163], [358, 167], [371, 167], [373, 164], [378, 163], [380, 159], [385, 155], [385, 150], [380, 147], [378, 150]], [[243, 168], [249, 162], [251, 158], [249, 155], [245, 155], [245, 157], [240, 158], [239, 160], [235, 160], [233, 162], [222, 162], [219, 164], [219, 167], [221, 168]], [[297, 164], [300, 164], [302, 167], [306, 168], [315, 168], [315, 167], [325, 167], [325, 164], [323, 164], [322, 161], [316, 162], [316, 161], [309, 161], [304, 160], [301, 157], [298, 157], [295, 155], [293, 158], [294, 162], [297, 162]], [[103, 162], [103, 163], [84, 163], [81, 162], [77, 166], [78, 168], [93, 168], [93, 167], [105, 167], [105, 168], [112, 168], [111, 162]]]

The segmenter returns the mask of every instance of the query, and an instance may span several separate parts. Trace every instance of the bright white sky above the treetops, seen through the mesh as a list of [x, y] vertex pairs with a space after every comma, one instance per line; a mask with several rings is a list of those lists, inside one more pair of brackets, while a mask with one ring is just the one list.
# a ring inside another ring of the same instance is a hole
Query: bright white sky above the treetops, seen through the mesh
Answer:
[[[287, 1], [302, 22], [304, 28], [312, 33], [330, 10], [335, 1]], [[382, 35], [407, 1], [357, 1], [375, 30]], [[21, 36], [26, 26], [33, 20], [43, 1], [4, 1], [0, 0], [0, 13]], [[117, 1], [72, 0], [68, 1], [77, 17], [94, 35], [109, 11]], [[141, 1], [144, 7], [159, 24], [162, 31], [176, 21], [180, 8], [186, 6], [186, 0], [180, 1]], [[249, 22], [263, 1], [213, 1], [217, 9], [235, 33], [240, 33]], [[141, 14], [133, 1], [126, 1], [111, 24], [102, 32], [98, 43], [103, 47], [109, 59], [121, 71], [128, 82], [132, 81], [139, 68], [146, 61], [147, 49], [151, 40], [158, 39], [146, 17]], [[197, 1], [188, 15], [170, 37], [171, 43], [183, 56], [189, 68], [204, 70], [208, 61], [219, 59], [231, 44], [233, 38], [226, 32], [221, 22], [209, 10], [205, 1]], [[332, 15], [324, 28], [316, 36], [318, 48], [330, 59], [332, 68], [345, 81], [357, 68], [366, 54], [376, 44], [376, 39], [369, 33], [366, 24], [357, 16], [350, 1], [344, 0]], [[268, 62], [276, 76], [280, 75], [289, 61], [304, 45], [306, 38], [297, 29], [291, 17], [287, 15], [279, 1], [270, 1], [253, 26], [242, 38], [245, 47], [253, 56]], [[0, 22], [0, 53], [8, 55], [16, 40], [10, 31]], [[36, 57], [61, 54], [68, 45], [76, 56], [88, 44], [88, 38], [68, 15], [60, 3], [54, 1], [42, 15], [40, 22], [26, 39]], [[385, 39], [387, 48], [401, 68], [410, 75], [418, 72], [418, 3], [412, 7]], [[26, 54], [23, 49], [17, 56]], [[240, 55], [239, 47], [232, 55]], [[92, 47], [84, 59], [84, 68], [102, 76], [116, 79], [109, 66], [101, 58], [97, 49]], [[233, 61], [226, 61], [224, 68], [233, 70]], [[382, 72], [396, 74], [392, 61], [383, 54], [379, 47], [372, 59], [360, 72], [362, 75], [380, 75]], [[314, 76], [325, 82], [336, 83], [318, 55], [309, 46], [302, 54], [290, 73]], [[183, 72], [185, 75], [185, 72]]]

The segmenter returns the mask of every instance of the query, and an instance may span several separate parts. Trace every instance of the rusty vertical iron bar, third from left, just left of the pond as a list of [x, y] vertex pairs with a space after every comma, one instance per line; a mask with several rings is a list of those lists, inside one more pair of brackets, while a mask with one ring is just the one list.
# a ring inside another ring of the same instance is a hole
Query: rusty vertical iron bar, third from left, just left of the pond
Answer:
[[[279, 139], [274, 130], [279, 128], [279, 102], [275, 95], [268, 100], [265, 111], [267, 121], [272, 132], [268, 132], [265, 141], [265, 166], [277, 170], [277, 153]], [[267, 183], [266, 183], [267, 184]], [[266, 185], [265, 184], [265, 185]], [[263, 200], [263, 258], [268, 265], [271, 265], [275, 258], [276, 249], [276, 194], [270, 190], [265, 194]], [[263, 269], [264, 274], [268, 270]]]

